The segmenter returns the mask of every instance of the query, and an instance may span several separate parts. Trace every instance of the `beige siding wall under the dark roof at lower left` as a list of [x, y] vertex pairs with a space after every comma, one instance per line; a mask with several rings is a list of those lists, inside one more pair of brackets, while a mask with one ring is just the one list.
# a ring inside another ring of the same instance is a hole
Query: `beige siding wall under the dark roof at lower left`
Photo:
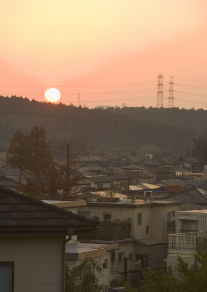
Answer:
[[14, 262], [14, 292], [61, 292], [63, 237], [1, 237], [0, 261]]

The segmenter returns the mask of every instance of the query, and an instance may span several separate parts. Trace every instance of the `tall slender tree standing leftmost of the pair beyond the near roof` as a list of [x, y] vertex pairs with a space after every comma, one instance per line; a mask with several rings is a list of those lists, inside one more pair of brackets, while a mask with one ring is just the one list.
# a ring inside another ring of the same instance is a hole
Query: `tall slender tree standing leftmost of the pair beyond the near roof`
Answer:
[[21, 183], [22, 171], [25, 169], [25, 135], [18, 129], [14, 133], [10, 146], [6, 153], [6, 162], [12, 167], [19, 168], [19, 183]]

